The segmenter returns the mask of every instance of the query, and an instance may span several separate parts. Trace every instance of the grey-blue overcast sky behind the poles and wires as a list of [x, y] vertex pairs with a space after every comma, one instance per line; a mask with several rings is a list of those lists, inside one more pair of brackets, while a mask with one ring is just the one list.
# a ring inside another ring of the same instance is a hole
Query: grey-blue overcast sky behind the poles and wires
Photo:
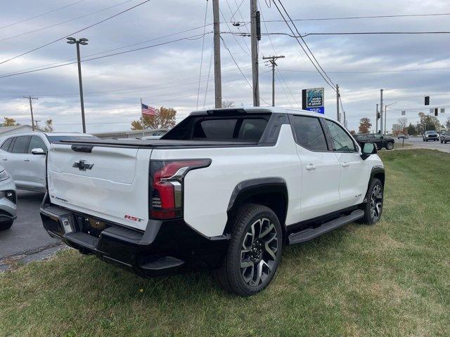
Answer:
[[[274, 4], [269, 8], [269, 0], [259, 1], [264, 20], [281, 19]], [[0, 62], [67, 37], [72, 32], [139, 2], [141, 1], [2, 1]], [[201, 34], [206, 6], [206, 22], [212, 22], [212, 0], [208, 2], [152, 0], [73, 35], [89, 39], [89, 45], [81, 46], [82, 58], [94, 58], [184, 37], [190, 38], [83, 62], [88, 132], [129, 129], [130, 121], [139, 118], [141, 98], [143, 103], [156, 107], [174, 107], [178, 111], [178, 121], [186, 117], [188, 112], [195, 110], [197, 100], [199, 108], [214, 105], [214, 70], [213, 67], [210, 68], [212, 34], [209, 34], [212, 32], [212, 25], [205, 28], [208, 34], [205, 35], [204, 41], [198, 98], [203, 44]], [[219, 3], [223, 13], [221, 31], [248, 32], [249, 25], [234, 27], [231, 21], [250, 20], [250, 1], [219, 0]], [[239, 4], [242, 6], [237, 11]], [[448, 0], [283, 0], [283, 4], [293, 19], [450, 13]], [[67, 7], [61, 8], [63, 6]], [[57, 8], [61, 9], [53, 11]], [[46, 13], [49, 11], [51, 13]], [[41, 15], [43, 13], [46, 14]], [[231, 18], [233, 14], [234, 17]], [[34, 16], [37, 17], [32, 18]], [[297, 21], [296, 25], [302, 33], [450, 31], [450, 15], [303, 20]], [[266, 22], [266, 26], [271, 33], [288, 32], [284, 22]], [[37, 32], [32, 32], [37, 29]], [[188, 29], [192, 30], [180, 33]], [[266, 33], [264, 25], [262, 32]], [[174, 35], [165, 37], [169, 34]], [[251, 83], [251, 63], [248, 55], [250, 38], [233, 37], [231, 34], [222, 34], [222, 37], [243, 72], [240, 74], [229, 51], [222, 45], [223, 98], [238, 106], [252, 105], [252, 91], [243, 77], [244, 75]], [[446, 116], [450, 117], [450, 34], [333, 35], [311, 36], [305, 40], [329, 77], [340, 85], [349, 129], [357, 128], [362, 117], [369, 117], [374, 121], [375, 105], [380, 101], [380, 88], [385, 89], [388, 104], [397, 102], [387, 110], [389, 130], [392, 123], [401, 117], [401, 110], [407, 111], [406, 117], [413, 123], [418, 119], [418, 112], [428, 112], [428, 109], [423, 107], [424, 95], [431, 95], [432, 105], [446, 107], [446, 115], [439, 117], [442, 122], [446, 120]], [[121, 48], [125, 46], [129, 47]], [[278, 60], [276, 104], [283, 107], [301, 107], [302, 88], [325, 87], [326, 114], [335, 117], [335, 93], [315, 72], [297, 41], [280, 35], [272, 35], [271, 41], [266, 36], [262, 37], [259, 56], [262, 58], [263, 55], [273, 55], [274, 50], [286, 57]], [[30, 68], [54, 65], [61, 61], [67, 63], [75, 57], [75, 45], [66, 44], [65, 40], [57, 41], [0, 64], [0, 77]], [[430, 68], [447, 69], [429, 70]], [[269, 67], [264, 66], [264, 62], [260, 62], [260, 94], [262, 100], [267, 103], [271, 103], [269, 70]], [[30, 124], [30, 108], [23, 95], [39, 98], [34, 101], [34, 118], [41, 120], [41, 126], [44, 125], [44, 120], [53, 119], [56, 131], [82, 130], [76, 64], [0, 78], [0, 117], [13, 117], [21, 124]], [[261, 105], [266, 103], [262, 101]]]

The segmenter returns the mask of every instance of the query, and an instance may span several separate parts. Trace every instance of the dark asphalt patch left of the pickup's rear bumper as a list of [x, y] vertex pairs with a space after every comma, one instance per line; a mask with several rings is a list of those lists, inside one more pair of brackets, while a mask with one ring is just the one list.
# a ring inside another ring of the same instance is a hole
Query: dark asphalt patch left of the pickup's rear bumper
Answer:
[[39, 206], [43, 198], [42, 193], [18, 190], [17, 220], [9, 230], [0, 231], [0, 260], [60, 242], [52, 239], [42, 227]]

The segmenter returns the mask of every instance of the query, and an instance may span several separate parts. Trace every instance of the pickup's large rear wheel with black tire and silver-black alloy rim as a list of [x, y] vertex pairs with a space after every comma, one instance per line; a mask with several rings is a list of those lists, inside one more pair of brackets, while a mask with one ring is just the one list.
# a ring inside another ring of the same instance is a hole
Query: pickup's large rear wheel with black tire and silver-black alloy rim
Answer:
[[236, 217], [222, 265], [214, 270], [215, 277], [226, 291], [255, 295], [273, 279], [282, 249], [283, 234], [274, 211], [245, 204]]

